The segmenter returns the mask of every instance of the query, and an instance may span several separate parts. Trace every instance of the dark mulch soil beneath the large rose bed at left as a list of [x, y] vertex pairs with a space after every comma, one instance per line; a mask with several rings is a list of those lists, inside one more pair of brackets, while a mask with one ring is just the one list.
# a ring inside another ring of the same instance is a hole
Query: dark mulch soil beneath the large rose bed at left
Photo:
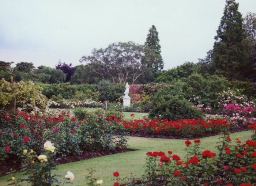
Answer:
[[[86, 160], [94, 157], [112, 155], [116, 153], [129, 152], [134, 151], [134, 149], [117, 149], [109, 152], [83, 152], [82, 155], [70, 155], [66, 157], [58, 157], [60, 160], [57, 160], [55, 163], [57, 165], [76, 162], [80, 160]], [[10, 172], [15, 173], [21, 170], [21, 163], [12, 163], [12, 162], [0, 162], [0, 176], [4, 176], [9, 174]], [[12, 171], [10, 171], [12, 169]]]

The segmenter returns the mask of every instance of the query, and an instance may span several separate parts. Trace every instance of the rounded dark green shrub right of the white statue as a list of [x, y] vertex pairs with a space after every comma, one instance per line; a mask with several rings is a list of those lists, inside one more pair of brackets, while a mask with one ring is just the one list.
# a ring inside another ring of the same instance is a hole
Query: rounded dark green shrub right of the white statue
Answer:
[[173, 96], [169, 91], [169, 87], [163, 87], [151, 98], [153, 109], [149, 112], [150, 118], [177, 120], [204, 117], [203, 112], [194, 108], [187, 99]]

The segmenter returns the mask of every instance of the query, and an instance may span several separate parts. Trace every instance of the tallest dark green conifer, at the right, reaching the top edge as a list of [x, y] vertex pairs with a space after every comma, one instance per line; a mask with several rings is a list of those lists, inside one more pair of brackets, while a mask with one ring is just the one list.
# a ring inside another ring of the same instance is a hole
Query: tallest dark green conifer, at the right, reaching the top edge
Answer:
[[246, 77], [246, 50], [243, 19], [235, 0], [226, 0], [224, 15], [215, 36], [210, 71], [227, 79], [241, 80]]

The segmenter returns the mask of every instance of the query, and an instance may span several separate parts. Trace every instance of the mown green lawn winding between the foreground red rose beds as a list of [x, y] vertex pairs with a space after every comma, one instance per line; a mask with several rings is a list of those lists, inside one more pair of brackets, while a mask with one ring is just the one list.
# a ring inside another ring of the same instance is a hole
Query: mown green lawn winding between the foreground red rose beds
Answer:
[[[233, 141], [235, 141], [236, 138], [239, 138], [242, 143], [244, 143], [251, 137], [251, 134], [251, 131], [244, 131], [233, 133], [230, 137]], [[218, 153], [215, 146], [217, 141], [219, 141], [218, 138], [221, 136], [222, 135], [200, 138], [202, 147]], [[138, 151], [118, 153], [59, 165], [57, 166], [59, 169], [57, 173], [64, 176], [67, 174], [67, 171], [71, 171], [75, 175], [73, 185], [84, 186], [86, 181], [84, 176], [87, 174], [86, 168], [92, 167], [97, 170], [95, 176], [103, 180], [102, 186], [109, 186], [114, 183], [110, 178], [113, 176], [112, 173], [115, 171], [120, 173], [120, 177], [130, 176], [131, 173], [135, 177], [142, 176], [144, 173], [143, 166], [146, 162], [146, 153], [148, 151], [164, 151], [167, 153], [168, 150], [171, 150], [173, 151], [173, 154], [179, 155], [183, 160], [185, 160], [186, 152], [182, 151], [182, 149], [185, 149], [184, 142], [185, 140], [178, 139], [129, 137], [129, 148], [139, 149]], [[0, 185], [7, 186], [8, 183], [10, 183], [7, 182], [7, 180], [10, 179], [11, 176], [12, 175], [0, 177]], [[20, 178], [21, 176], [22, 173], [15, 174], [16, 178]]]

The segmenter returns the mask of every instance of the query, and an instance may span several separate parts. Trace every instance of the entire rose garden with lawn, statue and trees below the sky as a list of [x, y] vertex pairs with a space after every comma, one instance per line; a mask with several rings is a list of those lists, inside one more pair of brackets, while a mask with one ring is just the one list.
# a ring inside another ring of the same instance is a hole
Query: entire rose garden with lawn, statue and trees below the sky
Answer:
[[226, 0], [206, 58], [167, 71], [154, 25], [86, 65], [0, 61], [0, 186], [255, 185], [255, 23]]

